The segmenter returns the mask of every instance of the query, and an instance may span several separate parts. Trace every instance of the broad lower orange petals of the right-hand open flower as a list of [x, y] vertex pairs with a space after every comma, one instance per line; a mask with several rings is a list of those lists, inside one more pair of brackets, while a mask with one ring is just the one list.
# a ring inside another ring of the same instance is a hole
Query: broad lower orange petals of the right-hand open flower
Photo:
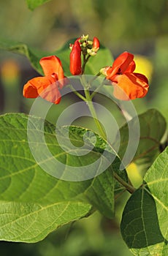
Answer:
[[144, 77], [144, 75], [137, 75], [136, 73], [116, 75], [112, 80], [114, 86], [114, 96], [121, 100], [145, 97], [149, 86]]

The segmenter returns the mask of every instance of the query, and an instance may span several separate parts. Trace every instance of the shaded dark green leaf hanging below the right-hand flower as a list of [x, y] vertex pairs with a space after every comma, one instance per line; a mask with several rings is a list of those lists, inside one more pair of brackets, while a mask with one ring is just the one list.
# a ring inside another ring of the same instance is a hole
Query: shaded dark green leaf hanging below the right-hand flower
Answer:
[[[155, 109], [150, 109], [140, 114], [138, 118], [140, 122], [140, 141], [132, 162], [140, 165], [143, 170], [147, 170], [154, 159], [159, 156], [161, 139], [167, 130], [167, 124], [161, 113]], [[134, 130], [136, 132], [137, 118], [132, 118], [129, 124], [133, 127], [132, 129], [135, 127]], [[157, 127], [157, 129], [155, 127]], [[121, 127], [120, 135], [121, 146], [118, 155], [122, 159], [129, 142], [129, 129], [127, 124]]]

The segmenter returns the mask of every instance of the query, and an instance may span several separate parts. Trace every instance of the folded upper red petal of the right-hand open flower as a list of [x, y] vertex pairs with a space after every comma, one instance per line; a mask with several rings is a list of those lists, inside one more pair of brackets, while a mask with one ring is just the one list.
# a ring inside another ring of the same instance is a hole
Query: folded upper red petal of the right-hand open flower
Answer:
[[121, 55], [113, 62], [112, 67], [107, 70], [107, 79], [112, 78], [113, 75], [117, 75], [118, 73], [123, 74], [127, 69], [133, 72], [135, 69], [133, 59], [133, 54], [128, 52], [121, 53]]

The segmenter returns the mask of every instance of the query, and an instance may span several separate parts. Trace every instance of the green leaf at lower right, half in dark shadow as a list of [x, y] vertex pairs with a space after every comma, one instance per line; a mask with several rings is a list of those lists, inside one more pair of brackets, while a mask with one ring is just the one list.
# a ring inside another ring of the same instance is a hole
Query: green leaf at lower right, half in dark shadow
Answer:
[[134, 255], [167, 255], [168, 148], [145, 175], [145, 184], [126, 203], [121, 233]]

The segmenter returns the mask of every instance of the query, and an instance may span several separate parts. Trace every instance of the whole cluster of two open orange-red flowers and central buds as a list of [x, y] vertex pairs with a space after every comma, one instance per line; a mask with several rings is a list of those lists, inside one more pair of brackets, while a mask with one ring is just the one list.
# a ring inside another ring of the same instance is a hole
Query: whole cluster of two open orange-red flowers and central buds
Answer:
[[[82, 75], [85, 64], [91, 56], [95, 56], [100, 44], [97, 37], [93, 41], [87, 36], [82, 36], [69, 45], [70, 72], [72, 75]], [[81, 58], [83, 55], [83, 61]], [[33, 78], [23, 87], [23, 96], [26, 98], [42, 97], [49, 102], [58, 104], [61, 100], [60, 90], [68, 84], [64, 75], [61, 60], [57, 56], [47, 56], [40, 59], [43, 77]], [[128, 52], [121, 53], [112, 64], [112, 67], [103, 67], [99, 74], [110, 80], [113, 86], [113, 95], [117, 99], [129, 100], [145, 97], [148, 92], [148, 79], [145, 75], [134, 72], [134, 55]]]

